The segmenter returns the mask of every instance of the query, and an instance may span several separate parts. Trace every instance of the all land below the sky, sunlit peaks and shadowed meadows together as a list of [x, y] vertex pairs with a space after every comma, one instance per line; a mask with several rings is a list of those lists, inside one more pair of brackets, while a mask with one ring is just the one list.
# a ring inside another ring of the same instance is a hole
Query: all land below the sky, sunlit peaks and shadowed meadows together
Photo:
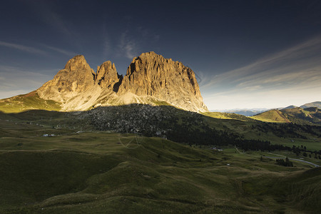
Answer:
[[0, 100], [0, 213], [313, 213], [315, 105], [209, 112], [183, 63], [151, 51], [121, 76], [77, 55]]

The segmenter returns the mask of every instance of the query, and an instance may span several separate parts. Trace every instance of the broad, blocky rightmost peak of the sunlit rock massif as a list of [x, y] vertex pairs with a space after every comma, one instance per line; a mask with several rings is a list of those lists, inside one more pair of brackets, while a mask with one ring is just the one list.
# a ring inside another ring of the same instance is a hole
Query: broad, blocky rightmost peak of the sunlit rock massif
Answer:
[[118, 91], [119, 94], [128, 92], [153, 96], [190, 111], [208, 111], [195, 73], [183, 63], [153, 51], [133, 58]]

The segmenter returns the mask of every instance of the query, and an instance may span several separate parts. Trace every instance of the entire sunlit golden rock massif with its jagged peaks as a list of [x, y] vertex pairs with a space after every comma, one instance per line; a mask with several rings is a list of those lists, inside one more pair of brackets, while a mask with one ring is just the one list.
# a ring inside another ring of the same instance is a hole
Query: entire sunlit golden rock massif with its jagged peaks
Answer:
[[61, 103], [63, 111], [130, 103], [208, 111], [195, 73], [183, 63], [154, 52], [133, 58], [124, 77], [117, 73], [111, 61], [102, 63], [95, 72], [84, 56], [75, 56], [36, 93], [44, 100]]

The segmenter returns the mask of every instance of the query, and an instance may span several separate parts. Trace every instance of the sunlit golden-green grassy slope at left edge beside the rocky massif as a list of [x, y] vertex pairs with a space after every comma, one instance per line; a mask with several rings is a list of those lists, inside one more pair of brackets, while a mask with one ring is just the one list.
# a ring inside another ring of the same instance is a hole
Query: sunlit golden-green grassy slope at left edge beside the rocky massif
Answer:
[[36, 91], [0, 100], [0, 111], [4, 113], [17, 113], [31, 109], [59, 111], [61, 106], [55, 101], [39, 98]]

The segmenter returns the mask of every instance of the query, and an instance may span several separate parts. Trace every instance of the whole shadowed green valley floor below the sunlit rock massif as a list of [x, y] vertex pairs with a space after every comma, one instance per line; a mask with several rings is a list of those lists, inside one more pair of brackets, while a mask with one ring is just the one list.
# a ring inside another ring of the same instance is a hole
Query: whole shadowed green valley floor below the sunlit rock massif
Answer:
[[[320, 165], [320, 126], [278, 136], [287, 124], [141, 104], [0, 119], [1, 213], [313, 213], [321, 199], [320, 167], [267, 158]], [[245, 149], [265, 141], [299, 150]]]

